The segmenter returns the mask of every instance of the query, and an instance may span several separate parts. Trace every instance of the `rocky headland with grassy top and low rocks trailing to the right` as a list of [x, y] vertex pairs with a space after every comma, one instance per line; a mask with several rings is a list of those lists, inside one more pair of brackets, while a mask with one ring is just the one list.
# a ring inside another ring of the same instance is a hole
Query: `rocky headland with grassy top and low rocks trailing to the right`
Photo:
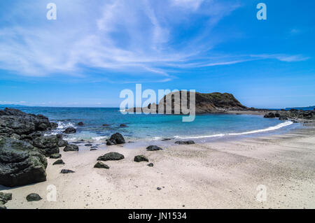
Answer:
[[[180, 91], [178, 92], [179, 98], [182, 98], [182, 94], [187, 95], [187, 102], [189, 108], [190, 104], [190, 95], [188, 92]], [[172, 100], [167, 100], [171, 99]], [[184, 105], [184, 107], [186, 106]], [[174, 99], [174, 93], [170, 93], [164, 96], [158, 105], [156, 104], [149, 104], [145, 108], [130, 108], [129, 112], [136, 112], [136, 111], [147, 111], [155, 108], [156, 106], [156, 113], [159, 113], [159, 110], [163, 113], [167, 113], [167, 106], [172, 108], [172, 114], [175, 113], [176, 106], [181, 108], [181, 100], [176, 101]], [[162, 108], [160, 108], [162, 107]], [[310, 107], [312, 108], [312, 107]], [[182, 110], [180, 110], [182, 113]], [[233, 94], [229, 93], [195, 93], [195, 113], [196, 114], [205, 114], [205, 113], [232, 113], [237, 115], [263, 115], [266, 118], [279, 118], [280, 120], [291, 120], [293, 122], [300, 122], [300, 123], [314, 123], [315, 122], [315, 110], [297, 110], [297, 109], [290, 109], [290, 110], [271, 110], [271, 109], [260, 109], [260, 108], [248, 108], [241, 104]]]

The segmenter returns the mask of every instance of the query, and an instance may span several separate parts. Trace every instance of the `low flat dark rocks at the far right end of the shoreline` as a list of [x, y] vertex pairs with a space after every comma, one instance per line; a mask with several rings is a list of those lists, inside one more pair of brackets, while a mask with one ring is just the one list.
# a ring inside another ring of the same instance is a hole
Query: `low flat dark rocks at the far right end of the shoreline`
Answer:
[[269, 111], [264, 117], [276, 118], [279, 120], [291, 120], [293, 122], [314, 122], [315, 121], [315, 110], [279, 110], [279, 111]]

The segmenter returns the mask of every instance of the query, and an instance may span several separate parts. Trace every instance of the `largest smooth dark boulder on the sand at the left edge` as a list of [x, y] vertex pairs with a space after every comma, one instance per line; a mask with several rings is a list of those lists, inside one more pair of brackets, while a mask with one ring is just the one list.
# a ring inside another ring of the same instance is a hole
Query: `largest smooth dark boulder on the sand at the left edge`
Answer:
[[0, 185], [18, 187], [46, 180], [47, 160], [33, 145], [0, 138]]

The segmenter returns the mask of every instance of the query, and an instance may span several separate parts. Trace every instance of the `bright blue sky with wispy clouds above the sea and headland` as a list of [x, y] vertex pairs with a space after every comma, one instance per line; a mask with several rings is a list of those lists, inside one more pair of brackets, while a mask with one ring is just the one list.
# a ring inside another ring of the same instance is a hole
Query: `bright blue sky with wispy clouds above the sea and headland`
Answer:
[[[48, 3], [57, 20], [47, 20]], [[256, 5], [267, 5], [257, 20]], [[3, 0], [0, 104], [118, 107], [123, 89], [315, 105], [315, 1]]]

